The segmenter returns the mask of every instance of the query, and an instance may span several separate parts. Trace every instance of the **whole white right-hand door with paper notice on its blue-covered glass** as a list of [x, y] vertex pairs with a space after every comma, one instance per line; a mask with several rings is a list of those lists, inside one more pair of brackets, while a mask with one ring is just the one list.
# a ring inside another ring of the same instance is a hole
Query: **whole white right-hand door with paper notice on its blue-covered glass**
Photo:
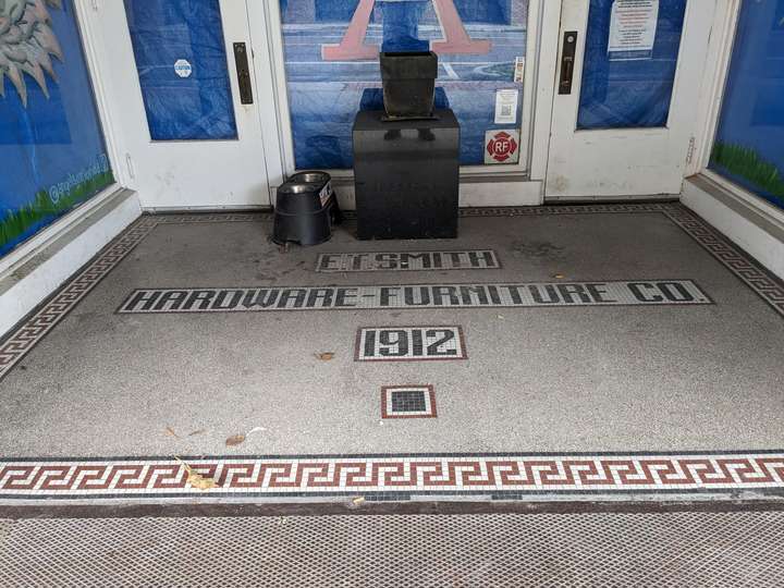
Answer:
[[714, 10], [715, 0], [563, 0], [559, 54], [566, 33], [576, 50], [559, 60], [556, 79], [569, 69], [573, 79], [554, 99], [547, 198], [679, 194]]

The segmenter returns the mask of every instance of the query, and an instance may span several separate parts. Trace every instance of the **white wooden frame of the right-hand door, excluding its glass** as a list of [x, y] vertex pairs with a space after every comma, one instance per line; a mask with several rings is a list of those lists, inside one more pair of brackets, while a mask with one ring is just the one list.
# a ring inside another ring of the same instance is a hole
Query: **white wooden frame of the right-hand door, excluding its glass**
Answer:
[[[575, 128], [590, 8], [588, 0], [567, 2], [558, 2], [562, 9], [569, 10], [568, 17], [572, 19], [572, 22], [562, 21], [558, 39], [561, 45], [565, 30], [578, 30], [574, 89], [567, 96], [554, 94], [546, 198], [575, 200], [679, 195], [690, 139], [699, 131], [696, 125], [697, 103], [708, 58], [714, 1], [689, 0], [686, 4], [666, 125], [586, 131]], [[564, 17], [562, 14], [562, 20]], [[710, 20], [706, 22], [706, 17]], [[561, 47], [559, 59], [560, 51]], [[560, 69], [559, 62], [556, 78]], [[616, 172], [610, 170], [604, 161], [618, 161], [622, 166]]]

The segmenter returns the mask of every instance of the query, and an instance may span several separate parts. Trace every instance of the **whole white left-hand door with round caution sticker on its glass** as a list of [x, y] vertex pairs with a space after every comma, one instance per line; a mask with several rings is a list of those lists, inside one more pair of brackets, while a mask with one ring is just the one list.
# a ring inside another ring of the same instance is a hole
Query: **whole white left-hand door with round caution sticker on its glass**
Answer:
[[120, 45], [111, 76], [143, 205], [269, 205], [261, 107], [257, 99], [242, 103], [236, 66], [235, 44], [243, 44], [245, 89], [256, 88], [245, 2], [124, 4], [106, 2], [100, 22], [105, 37]]

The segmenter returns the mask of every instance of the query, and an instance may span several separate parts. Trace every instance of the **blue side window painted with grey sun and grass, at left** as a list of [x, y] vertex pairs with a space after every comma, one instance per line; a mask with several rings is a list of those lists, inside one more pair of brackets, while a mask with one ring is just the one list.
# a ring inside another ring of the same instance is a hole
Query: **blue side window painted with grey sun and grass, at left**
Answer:
[[0, 22], [4, 255], [113, 179], [71, 0], [0, 1]]

